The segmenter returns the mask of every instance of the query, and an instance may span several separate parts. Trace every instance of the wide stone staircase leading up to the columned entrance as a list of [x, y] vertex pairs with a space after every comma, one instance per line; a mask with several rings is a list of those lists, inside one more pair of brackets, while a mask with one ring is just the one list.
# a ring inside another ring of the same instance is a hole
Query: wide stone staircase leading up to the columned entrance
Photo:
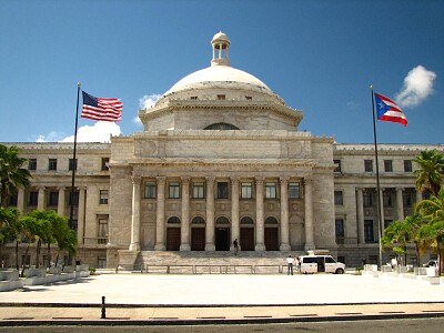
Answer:
[[148, 273], [281, 273], [304, 251], [141, 251], [134, 270]]

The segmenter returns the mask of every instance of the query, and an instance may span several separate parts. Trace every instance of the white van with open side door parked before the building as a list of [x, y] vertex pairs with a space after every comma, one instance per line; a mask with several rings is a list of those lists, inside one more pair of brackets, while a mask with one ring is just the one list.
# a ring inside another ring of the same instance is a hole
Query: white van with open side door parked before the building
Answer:
[[344, 274], [345, 264], [337, 262], [331, 255], [301, 255], [299, 258], [300, 272], [307, 273], [333, 273], [333, 274]]

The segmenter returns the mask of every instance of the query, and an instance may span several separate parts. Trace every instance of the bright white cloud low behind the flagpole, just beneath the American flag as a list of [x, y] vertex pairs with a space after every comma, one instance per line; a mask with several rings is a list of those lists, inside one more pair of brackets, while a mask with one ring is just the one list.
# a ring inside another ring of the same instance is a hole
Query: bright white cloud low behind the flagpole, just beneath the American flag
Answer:
[[[93, 125], [80, 127], [77, 131], [77, 142], [110, 142], [111, 135], [121, 133], [115, 122], [98, 121]], [[60, 142], [74, 142], [74, 135], [64, 138]]]

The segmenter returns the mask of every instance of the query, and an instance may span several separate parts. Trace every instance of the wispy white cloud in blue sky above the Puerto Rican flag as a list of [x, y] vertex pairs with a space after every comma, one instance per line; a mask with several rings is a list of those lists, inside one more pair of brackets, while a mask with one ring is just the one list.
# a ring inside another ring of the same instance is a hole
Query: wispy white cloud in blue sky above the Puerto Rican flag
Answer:
[[404, 78], [404, 87], [396, 95], [400, 107], [416, 107], [433, 92], [436, 73], [423, 65], [412, 69]]

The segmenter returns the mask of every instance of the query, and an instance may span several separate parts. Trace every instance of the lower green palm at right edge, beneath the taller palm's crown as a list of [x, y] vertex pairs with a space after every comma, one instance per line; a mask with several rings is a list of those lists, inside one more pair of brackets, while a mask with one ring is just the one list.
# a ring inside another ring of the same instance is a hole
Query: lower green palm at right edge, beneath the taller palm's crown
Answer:
[[431, 195], [430, 199], [420, 201], [415, 205], [415, 210], [427, 221], [420, 228], [418, 239], [437, 250], [438, 272], [441, 273], [441, 249], [444, 244], [444, 188], [441, 188], [437, 195]]

